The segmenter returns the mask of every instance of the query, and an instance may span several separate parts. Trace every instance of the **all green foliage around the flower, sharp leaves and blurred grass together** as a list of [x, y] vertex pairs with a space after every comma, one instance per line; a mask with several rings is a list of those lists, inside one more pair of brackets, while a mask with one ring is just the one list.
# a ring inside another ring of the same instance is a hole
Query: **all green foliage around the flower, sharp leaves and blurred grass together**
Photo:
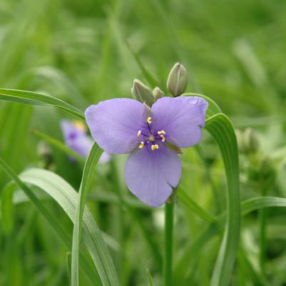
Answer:
[[[0, 286], [285, 285], [285, 12], [259, 0], [0, 1]], [[171, 253], [163, 208], [126, 188], [125, 157], [96, 165], [94, 145], [81, 158], [59, 121], [131, 98], [135, 78], [168, 95], [175, 62], [183, 96], [209, 108], [203, 141], [180, 155]]]

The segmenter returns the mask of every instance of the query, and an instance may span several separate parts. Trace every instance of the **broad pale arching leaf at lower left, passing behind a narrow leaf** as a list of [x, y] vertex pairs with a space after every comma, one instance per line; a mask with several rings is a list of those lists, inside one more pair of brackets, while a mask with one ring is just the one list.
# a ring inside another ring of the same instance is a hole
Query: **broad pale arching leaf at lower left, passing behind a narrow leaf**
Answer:
[[[48, 195], [51, 195], [74, 223], [78, 193], [63, 178], [51, 171], [36, 168], [24, 171], [24, 173], [21, 173], [20, 178], [25, 183], [36, 185]], [[108, 247], [88, 208], [85, 208], [83, 215], [83, 242], [85, 242], [88, 252], [96, 265], [103, 285], [119, 285]]]

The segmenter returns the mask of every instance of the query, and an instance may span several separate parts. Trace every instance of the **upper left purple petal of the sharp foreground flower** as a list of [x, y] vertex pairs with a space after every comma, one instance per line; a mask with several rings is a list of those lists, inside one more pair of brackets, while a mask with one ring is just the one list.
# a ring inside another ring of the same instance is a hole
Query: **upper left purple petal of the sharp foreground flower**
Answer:
[[115, 98], [89, 106], [86, 122], [93, 139], [108, 153], [129, 153], [138, 145], [137, 132], [148, 111], [139, 101]]

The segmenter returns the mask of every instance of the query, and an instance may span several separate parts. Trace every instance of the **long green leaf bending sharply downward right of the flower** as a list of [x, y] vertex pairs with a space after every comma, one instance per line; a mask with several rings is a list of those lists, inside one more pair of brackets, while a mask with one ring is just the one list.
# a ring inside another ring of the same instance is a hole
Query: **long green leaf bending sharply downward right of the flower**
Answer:
[[208, 118], [205, 128], [218, 143], [228, 181], [225, 232], [210, 285], [228, 286], [233, 273], [240, 237], [238, 144], [233, 124], [223, 113]]

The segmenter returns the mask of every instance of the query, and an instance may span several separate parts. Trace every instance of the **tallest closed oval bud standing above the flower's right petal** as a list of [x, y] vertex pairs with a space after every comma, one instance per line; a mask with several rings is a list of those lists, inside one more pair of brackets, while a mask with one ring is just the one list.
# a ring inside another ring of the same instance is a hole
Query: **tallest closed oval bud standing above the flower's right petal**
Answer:
[[167, 88], [170, 93], [176, 97], [185, 92], [187, 88], [188, 76], [187, 71], [180, 63], [175, 63], [175, 66], [170, 70]]

